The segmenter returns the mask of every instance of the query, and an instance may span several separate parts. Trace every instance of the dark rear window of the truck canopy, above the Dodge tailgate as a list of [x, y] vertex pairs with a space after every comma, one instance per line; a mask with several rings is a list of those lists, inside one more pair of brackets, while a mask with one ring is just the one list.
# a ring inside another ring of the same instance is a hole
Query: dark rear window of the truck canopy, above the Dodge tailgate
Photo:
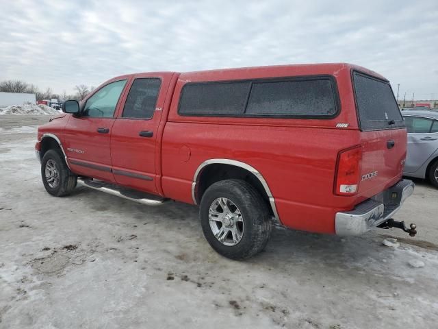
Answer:
[[402, 114], [388, 82], [358, 72], [353, 74], [353, 80], [362, 130], [404, 127]]

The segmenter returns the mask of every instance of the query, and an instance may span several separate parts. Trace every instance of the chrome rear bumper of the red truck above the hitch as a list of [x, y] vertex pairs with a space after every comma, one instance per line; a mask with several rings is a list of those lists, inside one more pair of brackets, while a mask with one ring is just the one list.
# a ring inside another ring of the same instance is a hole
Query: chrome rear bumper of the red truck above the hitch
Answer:
[[394, 186], [358, 204], [353, 210], [337, 212], [335, 229], [338, 235], [359, 235], [390, 219], [413, 193], [411, 180], [400, 180]]

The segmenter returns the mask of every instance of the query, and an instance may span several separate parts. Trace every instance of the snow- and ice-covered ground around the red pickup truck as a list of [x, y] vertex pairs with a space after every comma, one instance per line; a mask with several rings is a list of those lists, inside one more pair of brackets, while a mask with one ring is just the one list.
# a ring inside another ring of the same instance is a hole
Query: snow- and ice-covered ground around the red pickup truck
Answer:
[[428, 184], [396, 216], [415, 218], [414, 239], [274, 230], [265, 252], [235, 262], [209, 247], [194, 206], [48, 195], [34, 156], [47, 121], [0, 118], [0, 328], [437, 328]]

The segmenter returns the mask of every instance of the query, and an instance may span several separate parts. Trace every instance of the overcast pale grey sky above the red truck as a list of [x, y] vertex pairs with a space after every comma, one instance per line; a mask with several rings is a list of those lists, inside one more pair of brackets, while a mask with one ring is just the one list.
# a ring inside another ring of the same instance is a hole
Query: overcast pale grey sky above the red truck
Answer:
[[125, 73], [350, 62], [400, 98], [438, 98], [437, 0], [0, 1], [0, 80], [56, 93]]

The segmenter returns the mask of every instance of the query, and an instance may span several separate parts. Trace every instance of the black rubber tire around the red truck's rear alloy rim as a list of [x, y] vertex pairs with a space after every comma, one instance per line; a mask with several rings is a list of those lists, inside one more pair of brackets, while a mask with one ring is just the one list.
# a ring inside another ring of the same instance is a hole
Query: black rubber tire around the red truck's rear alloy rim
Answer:
[[[244, 229], [242, 239], [235, 245], [224, 245], [214, 235], [209, 223], [209, 208], [220, 197], [226, 197], [242, 214]], [[257, 190], [244, 180], [222, 180], [207, 188], [199, 210], [205, 239], [222, 256], [246, 259], [266, 247], [272, 223], [268, 205]]]

